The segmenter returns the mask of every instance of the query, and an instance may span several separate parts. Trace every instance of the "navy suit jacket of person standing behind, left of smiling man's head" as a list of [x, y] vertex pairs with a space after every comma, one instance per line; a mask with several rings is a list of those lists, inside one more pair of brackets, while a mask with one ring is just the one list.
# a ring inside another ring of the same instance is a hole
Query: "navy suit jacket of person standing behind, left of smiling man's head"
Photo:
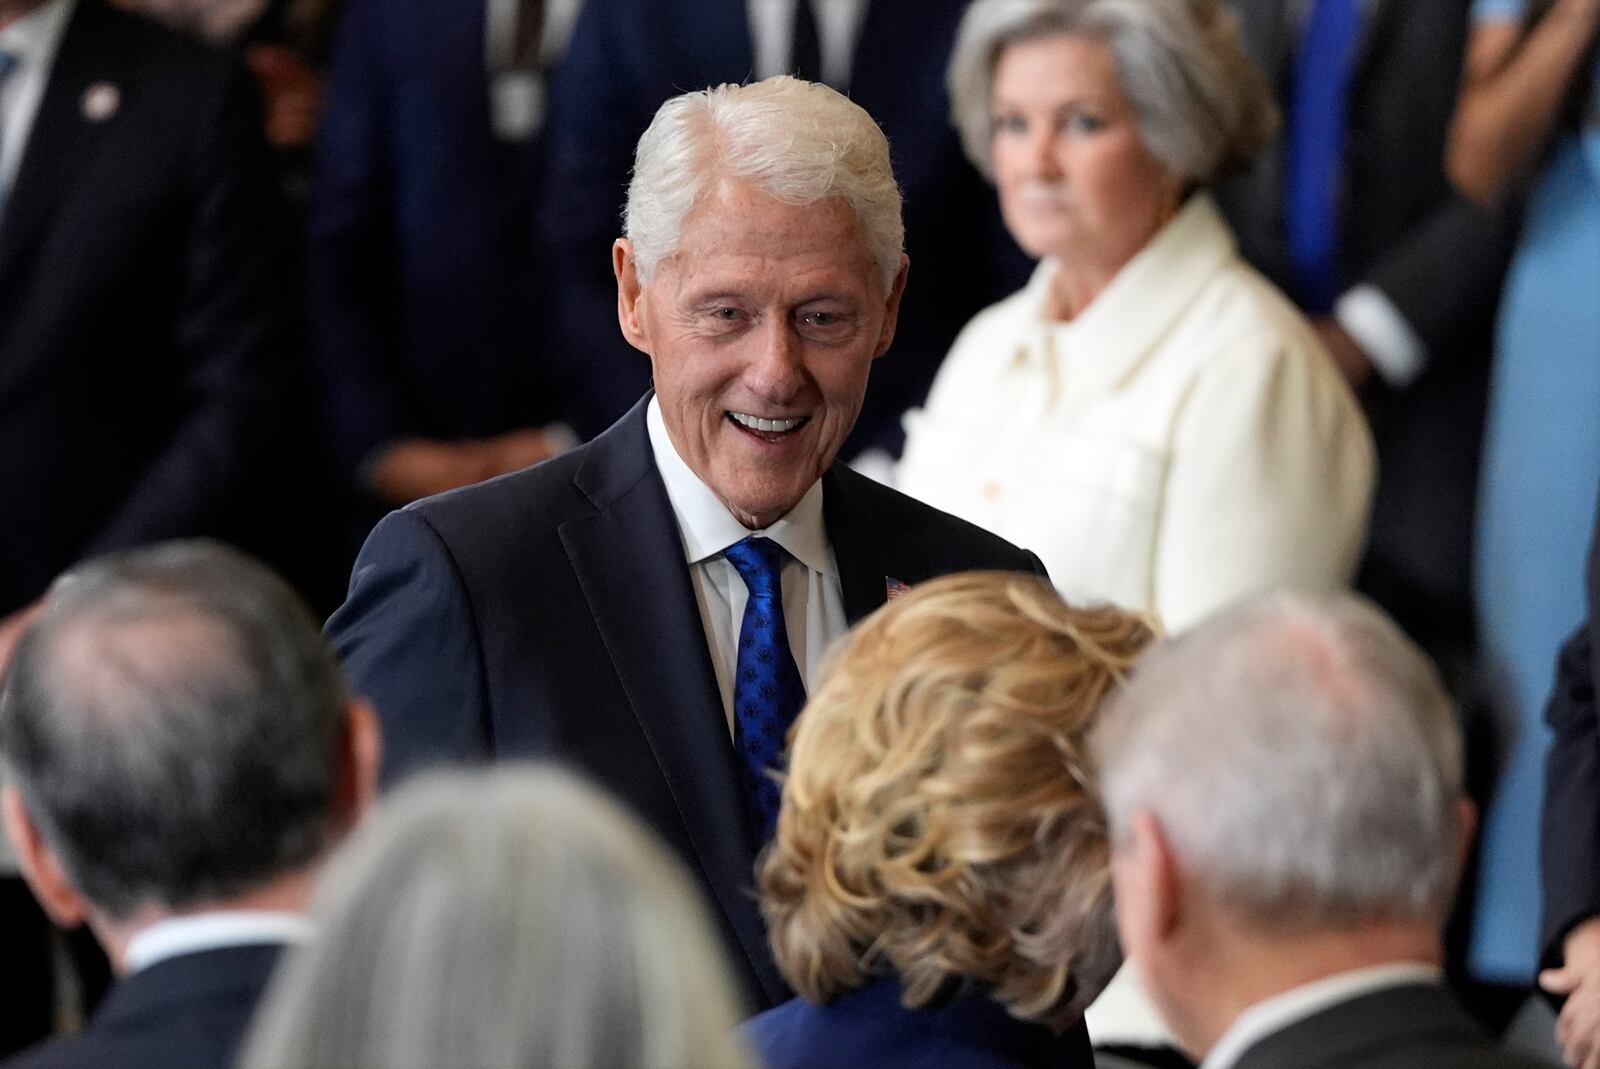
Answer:
[[483, 437], [552, 405], [536, 352], [538, 176], [533, 149], [490, 126], [483, 13], [485, 0], [349, 0], [341, 16], [307, 299], [347, 470], [394, 438]]

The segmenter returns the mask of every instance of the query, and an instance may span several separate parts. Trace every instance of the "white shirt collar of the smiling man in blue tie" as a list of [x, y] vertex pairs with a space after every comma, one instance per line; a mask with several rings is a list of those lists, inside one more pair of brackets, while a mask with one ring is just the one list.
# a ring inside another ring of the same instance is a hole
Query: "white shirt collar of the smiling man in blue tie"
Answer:
[[656, 470], [667, 486], [667, 501], [672, 502], [672, 515], [678, 522], [685, 560], [691, 565], [710, 560], [728, 546], [750, 534], [760, 534], [782, 546], [811, 571], [838, 576], [838, 565], [834, 563], [834, 552], [829, 549], [822, 525], [822, 480], [811, 483], [787, 515], [765, 530], [752, 531], [733, 518], [710, 486], [702, 483], [678, 456], [667, 435], [667, 422], [661, 416], [661, 402], [654, 397], [645, 411], [645, 427], [650, 432], [650, 450], [656, 456]]

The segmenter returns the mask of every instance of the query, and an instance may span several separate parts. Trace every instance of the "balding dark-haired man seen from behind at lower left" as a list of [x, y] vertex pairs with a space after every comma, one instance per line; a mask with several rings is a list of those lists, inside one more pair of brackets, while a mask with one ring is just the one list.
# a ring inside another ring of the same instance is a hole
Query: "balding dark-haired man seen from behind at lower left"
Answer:
[[0, 749], [29, 885], [120, 976], [82, 1034], [6, 1066], [229, 1069], [378, 783], [378, 720], [317, 621], [211, 543], [85, 563], [18, 643]]

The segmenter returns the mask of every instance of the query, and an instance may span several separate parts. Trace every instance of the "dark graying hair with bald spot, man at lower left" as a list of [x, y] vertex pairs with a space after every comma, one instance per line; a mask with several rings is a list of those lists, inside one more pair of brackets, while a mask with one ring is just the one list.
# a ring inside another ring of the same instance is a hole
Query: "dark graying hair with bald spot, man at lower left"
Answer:
[[317, 859], [347, 703], [283, 579], [216, 543], [166, 543], [56, 581], [6, 672], [0, 746], [77, 890], [123, 920]]

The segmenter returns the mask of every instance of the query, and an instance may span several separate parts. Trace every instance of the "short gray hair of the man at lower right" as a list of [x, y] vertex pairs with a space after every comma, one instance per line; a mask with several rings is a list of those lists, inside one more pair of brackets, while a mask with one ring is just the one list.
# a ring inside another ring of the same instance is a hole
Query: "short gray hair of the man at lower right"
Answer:
[[1269, 595], [1158, 648], [1094, 754], [1114, 842], [1152, 813], [1205, 893], [1262, 927], [1450, 907], [1454, 709], [1422, 651], [1355, 595]]

